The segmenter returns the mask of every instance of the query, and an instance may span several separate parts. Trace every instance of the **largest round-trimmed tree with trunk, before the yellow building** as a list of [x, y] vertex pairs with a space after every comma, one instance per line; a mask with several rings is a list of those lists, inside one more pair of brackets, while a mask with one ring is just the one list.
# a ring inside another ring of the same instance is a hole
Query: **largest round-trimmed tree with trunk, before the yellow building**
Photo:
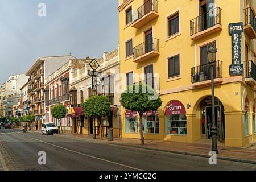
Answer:
[[127, 87], [127, 90], [121, 94], [120, 102], [125, 109], [139, 113], [139, 133], [141, 144], [144, 145], [142, 115], [148, 110], [158, 110], [162, 105], [159, 94], [151, 86], [139, 82]]

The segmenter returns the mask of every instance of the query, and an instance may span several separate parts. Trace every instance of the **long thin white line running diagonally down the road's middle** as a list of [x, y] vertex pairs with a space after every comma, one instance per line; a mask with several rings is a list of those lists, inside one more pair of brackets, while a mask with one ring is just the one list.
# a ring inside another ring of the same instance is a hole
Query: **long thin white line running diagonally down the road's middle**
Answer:
[[87, 155], [87, 154], [84, 154], [84, 153], [81, 153], [81, 152], [77, 152], [77, 151], [74, 151], [74, 150], [70, 150], [70, 149], [68, 149], [68, 148], [60, 147], [60, 146], [57, 146], [56, 144], [44, 142], [43, 140], [39, 140], [39, 139], [31, 138], [31, 137], [27, 137], [27, 138], [30, 138], [30, 139], [32, 139], [32, 140], [36, 140], [36, 141], [38, 141], [38, 142], [46, 143], [46, 144], [49, 144], [49, 145], [51, 145], [51, 146], [55, 146], [55, 147], [58, 147], [58, 148], [62, 148], [63, 150], [67, 150], [67, 151], [69, 151], [69, 152], [73, 152], [73, 153], [76, 153], [76, 154], [84, 155], [84, 156], [87, 156], [87, 157], [89, 157], [89, 158], [98, 159], [98, 160], [102, 160], [102, 161], [105, 161], [105, 162], [108, 162], [108, 163], [117, 164], [117, 165], [119, 165], [119, 166], [127, 167], [127, 168], [130, 168], [130, 169], [135, 169], [135, 170], [137, 170], [137, 171], [143, 171], [142, 169], [138, 169], [138, 168], [131, 167], [131, 166], [126, 166], [125, 164], [116, 163], [116, 162], [113, 162], [113, 161], [110, 161], [110, 160], [97, 158], [97, 157], [92, 156], [92, 155]]

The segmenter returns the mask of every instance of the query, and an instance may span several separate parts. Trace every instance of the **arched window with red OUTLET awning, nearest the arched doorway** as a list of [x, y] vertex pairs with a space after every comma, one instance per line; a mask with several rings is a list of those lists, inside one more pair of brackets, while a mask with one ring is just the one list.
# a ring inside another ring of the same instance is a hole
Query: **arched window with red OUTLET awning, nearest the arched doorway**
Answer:
[[165, 111], [166, 134], [187, 135], [187, 117], [183, 104], [172, 101]]

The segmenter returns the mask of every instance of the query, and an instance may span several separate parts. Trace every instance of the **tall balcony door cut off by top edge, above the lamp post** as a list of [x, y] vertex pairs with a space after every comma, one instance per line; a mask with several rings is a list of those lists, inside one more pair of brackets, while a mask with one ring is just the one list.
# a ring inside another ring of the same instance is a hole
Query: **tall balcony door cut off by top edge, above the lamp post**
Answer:
[[214, 0], [200, 0], [200, 30], [214, 26]]

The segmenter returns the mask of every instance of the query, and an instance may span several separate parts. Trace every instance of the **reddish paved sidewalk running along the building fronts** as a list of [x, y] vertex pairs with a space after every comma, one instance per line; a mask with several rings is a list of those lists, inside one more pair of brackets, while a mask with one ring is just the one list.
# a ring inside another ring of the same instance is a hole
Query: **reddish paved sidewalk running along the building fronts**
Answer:
[[[144, 148], [148, 150], [171, 152], [176, 154], [202, 156], [205, 158], [209, 158], [208, 154], [212, 147], [211, 140], [200, 140], [199, 142], [195, 143], [167, 142], [162, 140], [144, 140], [145, 144], [144, 146], [141, 146], [141, 141], [139, 139], [114, 138], [113, 142], [109, 142], [107, 138], [101, 140], [100, 136], [97, 136], [97, 139], [92, 139], [92, 135], [82, 134], [79, 135], [66, 133], [61, 136], [90, 140], [100, 143]], [[218, 142], [218, 151], [218, 159], [256, 164], [256, 143], [248, 145], [246, 147], [225, 147], [223, 143]]]

